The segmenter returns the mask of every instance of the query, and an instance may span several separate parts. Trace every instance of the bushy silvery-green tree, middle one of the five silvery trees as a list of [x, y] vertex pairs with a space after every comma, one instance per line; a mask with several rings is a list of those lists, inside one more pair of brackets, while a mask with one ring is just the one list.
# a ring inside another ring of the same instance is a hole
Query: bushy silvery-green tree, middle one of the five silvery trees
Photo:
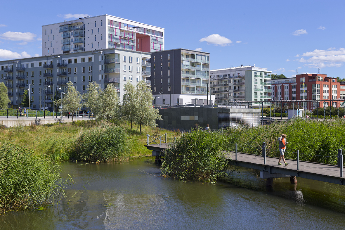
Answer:
[[100, 90], [95, 103], [91, 107], [93, 108], [93, 115], [97, 120], [118, 118], [120, 99], [113, 85], [109, 84], [105, 90]]

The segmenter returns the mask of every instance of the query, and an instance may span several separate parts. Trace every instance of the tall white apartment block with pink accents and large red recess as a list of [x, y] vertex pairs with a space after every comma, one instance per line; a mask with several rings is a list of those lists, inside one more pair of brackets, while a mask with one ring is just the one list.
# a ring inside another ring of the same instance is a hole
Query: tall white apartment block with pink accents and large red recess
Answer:
[[111, 15], [42, 26], [42, 56], [108, 48], [164, 50], [164, 29]]

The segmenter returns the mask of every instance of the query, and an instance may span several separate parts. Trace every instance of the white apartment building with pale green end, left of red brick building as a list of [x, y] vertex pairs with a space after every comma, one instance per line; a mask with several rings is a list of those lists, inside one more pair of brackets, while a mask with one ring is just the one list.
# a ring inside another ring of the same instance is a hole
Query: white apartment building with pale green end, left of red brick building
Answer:
[[210, 70], [210, 93], [215, 96], [215, 103], [218, 105], [270, 100], [269, 73], [272, 71], [255, 65]]

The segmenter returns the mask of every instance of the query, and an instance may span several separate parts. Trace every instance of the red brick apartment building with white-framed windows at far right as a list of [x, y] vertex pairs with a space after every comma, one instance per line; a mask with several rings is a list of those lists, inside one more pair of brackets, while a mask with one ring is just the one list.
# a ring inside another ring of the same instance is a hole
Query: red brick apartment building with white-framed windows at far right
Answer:
[[[345, 82], [326, 74], [298, 74], [294, 78], [274, 79], [272, 100], [319, 100], [306, 103], [308, 110], [317, 107], [338, 107], [345, 100]], [[289, 103], [291, 104], [291, 103]]]

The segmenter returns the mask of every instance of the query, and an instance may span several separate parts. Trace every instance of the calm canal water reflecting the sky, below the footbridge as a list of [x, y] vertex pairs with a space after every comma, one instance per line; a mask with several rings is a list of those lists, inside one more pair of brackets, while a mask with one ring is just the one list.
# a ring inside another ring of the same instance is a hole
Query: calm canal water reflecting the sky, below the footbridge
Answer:
[[345, 229], [345, 186], [237, 169], [216, 185], [161, 178], [154, 158], [61, 163], [75, 183], [57, 207], [9, 212], [0, 229]]

